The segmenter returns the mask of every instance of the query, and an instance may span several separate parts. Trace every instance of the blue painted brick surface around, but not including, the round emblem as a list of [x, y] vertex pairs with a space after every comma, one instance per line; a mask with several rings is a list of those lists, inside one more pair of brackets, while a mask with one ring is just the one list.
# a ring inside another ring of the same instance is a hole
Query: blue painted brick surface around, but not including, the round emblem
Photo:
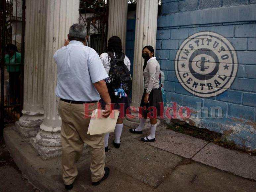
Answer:
[[[200, 121], [219, 122], [221, 127], [204, 128], [219, 133], [231, 130], [233, 133], [227, 138], [251, 149], [256, 149], [256, 142], [251, 142], [256, 140], [255, 4], [256, 0], [162, 0], [156, 42], [156, 57], [165, 73], [166, 105], [177, 102], [193, 110], [197, 110], [197, 102], [202, 102], [202, 107], [208, 109], [220, 106], [221, 119], [209, 116]], [[252, 11], [248, 11], [250, 8]], [[227, 38], [238, 58], [238, 70], [232, 85], [210, 98], [186, 91], [175, 73], [175, 58], [180, 45], [200, 31], [216, 32]], [[202, 112], [205, 114], [206, 111]]]

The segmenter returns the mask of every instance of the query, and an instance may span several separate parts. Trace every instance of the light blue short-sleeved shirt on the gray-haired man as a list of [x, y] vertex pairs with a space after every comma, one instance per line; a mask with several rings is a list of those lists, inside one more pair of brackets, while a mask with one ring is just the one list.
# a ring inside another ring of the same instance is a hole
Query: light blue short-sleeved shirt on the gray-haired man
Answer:
[[59, 98], [73, 101], [99, 101], [93, 83], [108, 77], [99, 55], [80, 41], [57, 50], [53, 56], [58, 68], [55, 90]]

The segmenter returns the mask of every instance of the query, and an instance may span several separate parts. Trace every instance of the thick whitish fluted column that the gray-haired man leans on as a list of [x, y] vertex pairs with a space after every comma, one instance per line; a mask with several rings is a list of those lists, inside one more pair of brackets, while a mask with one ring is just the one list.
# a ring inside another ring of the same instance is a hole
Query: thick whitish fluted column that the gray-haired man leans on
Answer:
[[44, 120], [41, 131], [31, 138], [32, 145], [43, 159], [61, 155], [61, 118], [58, 114], [59, 98], [55, 95], [57, 66], [53, 55], [64, 46], [69, 27], [78, 23], [79, 0], [47, 0], [44, 62]]

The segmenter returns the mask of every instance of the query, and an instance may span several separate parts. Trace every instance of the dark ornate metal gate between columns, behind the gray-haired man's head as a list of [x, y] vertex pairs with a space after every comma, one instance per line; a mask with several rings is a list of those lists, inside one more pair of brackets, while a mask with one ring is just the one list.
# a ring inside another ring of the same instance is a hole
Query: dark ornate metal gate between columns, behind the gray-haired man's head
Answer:
[[107, 49], [109, 0], [80, 0], [79, 23], [87, 30], [86, 46], [99, 55]]

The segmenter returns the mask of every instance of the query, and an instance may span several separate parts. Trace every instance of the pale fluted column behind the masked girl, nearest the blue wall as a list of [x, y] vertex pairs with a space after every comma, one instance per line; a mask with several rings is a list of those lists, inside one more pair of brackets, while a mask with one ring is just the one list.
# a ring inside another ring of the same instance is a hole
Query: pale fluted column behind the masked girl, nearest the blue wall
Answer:
[[[158, 0], [137, 0], [131, 98], [131, 105], [136, 108], [139, 107], [143, 94], [144, 60], [141, 56], [142, 48], [146, 45], [151, 45], [155, 49], [157, 11]], [[133, 115], [137, 116], [138, 113], [133, 113]], [[146, 122], [149, 122], [149, 120]], [[124, 124], [136, 128], [139, 120], [137, 118], [129, 119], [127, 117]]]

